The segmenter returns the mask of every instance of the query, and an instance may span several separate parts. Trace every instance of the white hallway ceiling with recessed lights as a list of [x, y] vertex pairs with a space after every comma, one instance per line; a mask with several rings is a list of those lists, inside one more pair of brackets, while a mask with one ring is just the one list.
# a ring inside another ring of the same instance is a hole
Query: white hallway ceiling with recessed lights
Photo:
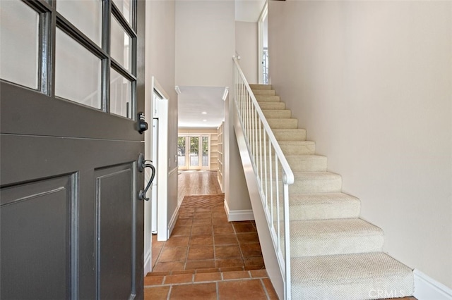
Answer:
[[[179, 87], [179, 127], [214, 127], [225, 120], [225, 87]], [[204, 112], [204, 113], [203, 113]]]

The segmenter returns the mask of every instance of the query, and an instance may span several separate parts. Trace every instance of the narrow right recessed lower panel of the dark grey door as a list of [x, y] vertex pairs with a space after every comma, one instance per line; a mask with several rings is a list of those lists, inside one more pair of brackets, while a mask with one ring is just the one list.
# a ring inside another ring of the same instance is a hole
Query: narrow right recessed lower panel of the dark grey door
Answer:
[[[100, 299], [129, 299], [132, 257], [133, 165], [95, 171], [99, 226]], [[129, 259], [118, 259], [118, 257]]]

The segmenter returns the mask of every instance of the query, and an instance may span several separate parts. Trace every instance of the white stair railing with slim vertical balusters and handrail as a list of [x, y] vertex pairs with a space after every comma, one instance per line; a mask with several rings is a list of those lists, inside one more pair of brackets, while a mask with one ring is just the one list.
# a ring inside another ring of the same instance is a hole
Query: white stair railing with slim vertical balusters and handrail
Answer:
[[234, 56], [234, 102], [284, 282], [290, 299], [289, 185], [294, 175]]

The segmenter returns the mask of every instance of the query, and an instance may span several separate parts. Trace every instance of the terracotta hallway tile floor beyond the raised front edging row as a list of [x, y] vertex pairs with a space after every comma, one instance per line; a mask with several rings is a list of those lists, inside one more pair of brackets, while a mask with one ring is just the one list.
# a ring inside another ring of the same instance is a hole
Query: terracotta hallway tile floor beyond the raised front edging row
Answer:
[[264, 268], [254, 221], [228, 222], [224, 196], [185, 196], [167, 242], [153, 236], [154, 272]]

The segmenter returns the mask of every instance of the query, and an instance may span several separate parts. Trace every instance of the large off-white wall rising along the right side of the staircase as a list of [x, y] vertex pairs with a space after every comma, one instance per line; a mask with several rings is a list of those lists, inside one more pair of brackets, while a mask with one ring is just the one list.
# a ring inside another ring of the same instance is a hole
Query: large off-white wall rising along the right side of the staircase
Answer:
[[452, 2], [270, 1], [269, 51], [384, 251], [452, 287]]

